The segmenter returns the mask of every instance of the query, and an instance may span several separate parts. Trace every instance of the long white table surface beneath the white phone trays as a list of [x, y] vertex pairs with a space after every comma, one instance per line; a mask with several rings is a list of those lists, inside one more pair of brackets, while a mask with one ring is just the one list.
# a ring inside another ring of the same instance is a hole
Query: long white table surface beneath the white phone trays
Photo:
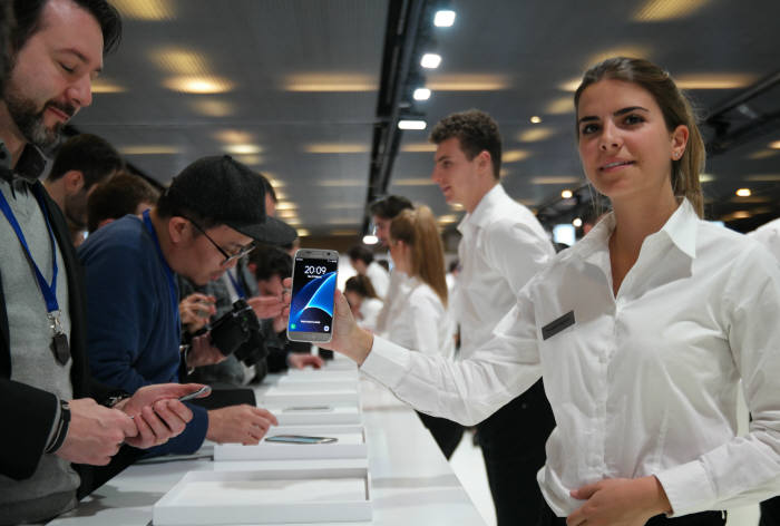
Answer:
[[[340, 362], [331, 370], [343, 367], [343, 362]], [[280, 379], [271, 376], [259, 389], [259, 400], [266, 390], [274, 389]], [[370, 523], [318, 524], [484, 525], [477, 508], [415, 411], [370, 379], [359, 380], [359, 392], [368, 444], [373, 519]], [[358, 468], [365, 462], [364, 459], [214, 462], [212, 452], [213, 446], [204, 445], [193, 459], [169, 461], [164, 458], [157, 459], [157, 464], [134, 465], [85, 498], [77, 509], [49, 524], [147, 526], [155, 503], [188, 471], [242, 470], [252, 469], [253, 465], [262, 465], [264, 469], [318, 466]], [[232, 468], [232, 464], [236, 466]]]

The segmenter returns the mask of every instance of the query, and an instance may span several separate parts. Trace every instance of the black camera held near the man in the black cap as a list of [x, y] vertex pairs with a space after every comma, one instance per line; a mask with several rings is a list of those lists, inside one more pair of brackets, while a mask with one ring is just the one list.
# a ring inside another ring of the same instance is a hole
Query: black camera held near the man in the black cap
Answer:
[[224, 355], [234, 354], [246, 366], [255, 364], [267, 355], [260, 321], [245, 300], [236, 300], [233, 308], [212, 323], [212, 344]]

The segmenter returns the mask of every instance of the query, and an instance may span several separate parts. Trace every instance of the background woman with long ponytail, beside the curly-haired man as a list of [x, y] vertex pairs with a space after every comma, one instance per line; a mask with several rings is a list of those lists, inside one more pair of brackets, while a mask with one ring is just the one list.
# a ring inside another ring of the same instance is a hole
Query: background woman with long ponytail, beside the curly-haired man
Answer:
[[[451, 358], [455, 340], [447, 312], [445, 251], [430, 208], [420, 205], [397, 215], [390, 223], [389, 247], [396, 272], [408, 277], [408, 288], [403, 298], [393, 302], [383, 335], [421, 354]], [[464, 435], [462, 427], [418, 415], [449, 459]]]

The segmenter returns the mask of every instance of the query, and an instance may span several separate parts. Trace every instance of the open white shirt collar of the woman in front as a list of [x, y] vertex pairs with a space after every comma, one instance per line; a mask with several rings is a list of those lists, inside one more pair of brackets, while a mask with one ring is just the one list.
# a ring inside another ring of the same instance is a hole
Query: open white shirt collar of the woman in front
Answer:
[[[696, 257], [698, 223], [699, 216], [693, 206], [688, 199], [683, 199], [661, 230], [652, 235], [665, 235], [683, 254], [693, 260]], [[583, 260], [588, 260], [594, 253], [607, 250], [614, 230], [615, 213], [610, 212], [575, 244], [576, 250], [573, 252], [579, 254]]]

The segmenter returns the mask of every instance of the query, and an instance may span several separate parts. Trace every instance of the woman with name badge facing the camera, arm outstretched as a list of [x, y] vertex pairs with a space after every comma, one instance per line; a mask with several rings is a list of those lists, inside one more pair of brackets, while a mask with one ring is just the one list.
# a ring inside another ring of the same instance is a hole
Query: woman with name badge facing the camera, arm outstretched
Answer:
[[722, 525], [719, 510], [780, 493], [780, 270], [700, 218], [704, 145], [665, 71], [606, 60], [574, 103], [584, 171], [614, 212], [518, 291], [494, 339], [458, 362], [411, 353], [339, 299], [331, 347], [466, 425], [544, 376], [557, 427], [543, 524]]

